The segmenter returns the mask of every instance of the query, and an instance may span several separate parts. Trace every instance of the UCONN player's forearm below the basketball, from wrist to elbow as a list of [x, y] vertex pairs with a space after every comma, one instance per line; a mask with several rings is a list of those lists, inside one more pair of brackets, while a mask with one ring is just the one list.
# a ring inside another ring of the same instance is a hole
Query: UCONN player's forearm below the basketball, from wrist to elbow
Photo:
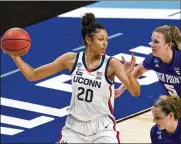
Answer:
[[20, 57], [11, 56], [14, 60], [17, 67], [21, 70], [23, 75], [27, 78], [27, 80], [32, 81], [32, 78], [34, 76], [34, 69], [25, 63]]

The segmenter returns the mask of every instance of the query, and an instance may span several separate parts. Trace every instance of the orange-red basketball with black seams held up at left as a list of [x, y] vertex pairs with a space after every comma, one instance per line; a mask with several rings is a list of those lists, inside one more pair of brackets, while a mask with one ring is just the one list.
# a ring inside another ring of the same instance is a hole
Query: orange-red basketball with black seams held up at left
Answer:
[[1, 38], [1, 48], [8, 55], [23, 56], [31, 46], [29, 34], [22, 28], [11, 28]]

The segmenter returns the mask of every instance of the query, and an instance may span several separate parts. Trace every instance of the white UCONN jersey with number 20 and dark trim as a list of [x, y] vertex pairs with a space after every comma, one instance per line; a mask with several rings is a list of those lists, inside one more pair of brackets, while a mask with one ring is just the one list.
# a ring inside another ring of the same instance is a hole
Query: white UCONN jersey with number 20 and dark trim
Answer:
[[93, 120], [103, 115], [112, 115], [114, 105], [114, 85], [107, 78], [110, 61], [102, 56], [96, 69], [87, 70], [84, 52], [77, 54], [72, 70], [72, 98], [68, 113], [81, 121]]

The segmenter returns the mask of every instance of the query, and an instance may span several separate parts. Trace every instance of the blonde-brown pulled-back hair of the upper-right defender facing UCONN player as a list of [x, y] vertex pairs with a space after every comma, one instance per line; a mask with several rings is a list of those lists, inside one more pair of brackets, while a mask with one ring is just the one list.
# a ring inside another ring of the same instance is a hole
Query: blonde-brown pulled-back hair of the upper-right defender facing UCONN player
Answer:
[[173, 43], [172, 48], [175, 48], [181, 51], [181, 33], [178, 27], [163, 25], [163, 26], [157, 27], [154, 31], [164, 34], [166, 42], [168, 43], [172, 42]]

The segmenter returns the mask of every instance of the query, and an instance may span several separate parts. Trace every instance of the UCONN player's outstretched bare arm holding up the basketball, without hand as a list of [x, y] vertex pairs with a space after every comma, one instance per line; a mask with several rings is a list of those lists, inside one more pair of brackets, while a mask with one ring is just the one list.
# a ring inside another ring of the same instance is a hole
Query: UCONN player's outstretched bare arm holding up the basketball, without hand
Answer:
[[61, 70], [68, 69], [71, 71], [73, 64], [76, 59], [76, 53], [65, 53], [58, 57], [53, 62], [40, 66], [38, 68], [32, 68], [30, 65], [25, 63], [20, 57], [11, 56], [17, 67], [21, 70], [24, 76], [29, 81], [37, 81], [53, 75]]

